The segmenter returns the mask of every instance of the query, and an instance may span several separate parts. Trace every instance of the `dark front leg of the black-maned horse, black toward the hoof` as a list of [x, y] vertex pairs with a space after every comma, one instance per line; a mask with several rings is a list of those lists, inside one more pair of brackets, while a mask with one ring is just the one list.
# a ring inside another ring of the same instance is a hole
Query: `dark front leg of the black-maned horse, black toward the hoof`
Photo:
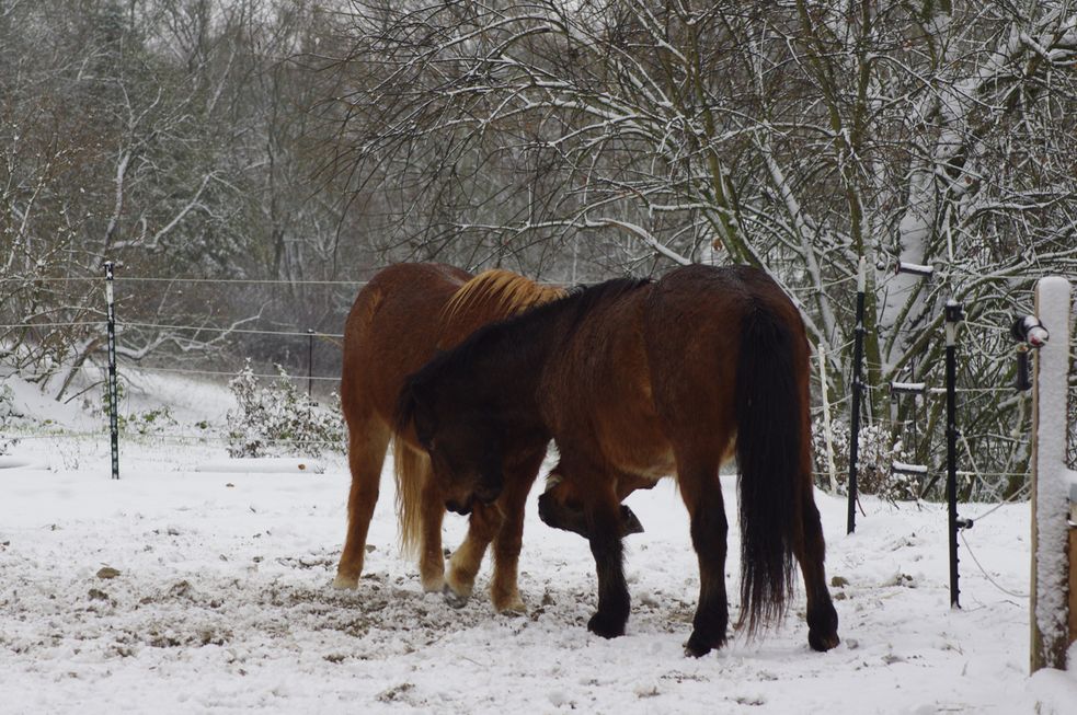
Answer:
[[630, 608], [621, 547], [621, 511], [612, 485], [607, 484], [594, 494], [585, 511], [591, 553], [598, 574], [598, 611], [591, 616], [587, 630], [612, 638], [625, 635]]

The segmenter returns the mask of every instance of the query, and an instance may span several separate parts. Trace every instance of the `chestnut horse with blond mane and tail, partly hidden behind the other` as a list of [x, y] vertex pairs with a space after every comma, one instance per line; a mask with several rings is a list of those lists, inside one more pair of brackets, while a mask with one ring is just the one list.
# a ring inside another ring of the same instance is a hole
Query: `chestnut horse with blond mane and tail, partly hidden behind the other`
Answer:
[[398, 395], [410, 372], [472, 331], [532, 305], [559, 298], [559, 288], [539, 286], [506, 270], [477, 278], [451, 266], [400, 264], [381, 270], [359, 291], [344, 328], [341, 404], [348, 428], [352, 488], [347, 537], [333, 581], [356, 588], [363, 572], [366, 537], [378, 500], [381, 466], [393, 440], [397, 508], [404, 551], [420, 552], [420, 574], [428, 591], [446, 588], [462, 603], [486, 546], [494, 542], [491, 598], [499, 611], [519, 610], [516, 568], [523, 533], [524, 500], [541, 458], [518, 466], [513, 476], [522, 494], [506, 489], [496, 504], [476, 509], [468, 537], [445, 574], [442, 555], [444, 500], [429, 484], [429, 460], [413, 430], [392, 429]]

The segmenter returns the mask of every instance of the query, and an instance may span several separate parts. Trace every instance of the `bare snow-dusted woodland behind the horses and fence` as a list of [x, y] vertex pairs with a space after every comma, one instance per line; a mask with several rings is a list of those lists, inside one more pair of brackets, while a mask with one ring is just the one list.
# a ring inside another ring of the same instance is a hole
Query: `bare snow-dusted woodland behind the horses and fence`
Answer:
[[389, 263], [749, 263], [823, 348], [841, 476], [863, 257], [869, 488], [938, 494], [889, 465], [941, 472], [942, 402], [887, 384], [941, 387], [953, 299], [962, 497], [1015, 498], [1009, 324], [1077, 275], [1075, 198], [1072, 0], [0, 0], [0, 365], [59, 400], [103, 261], [122, 365], [329, 378]]

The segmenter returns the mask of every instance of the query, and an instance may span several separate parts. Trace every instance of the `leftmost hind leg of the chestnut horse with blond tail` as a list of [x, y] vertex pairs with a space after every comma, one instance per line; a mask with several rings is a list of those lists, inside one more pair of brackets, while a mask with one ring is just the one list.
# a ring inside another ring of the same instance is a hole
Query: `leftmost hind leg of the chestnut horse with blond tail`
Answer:
[[369, 415], [348, 422], [347, 463], [352, 472], [352, 488], [347, 497], [347, 534], [344, 552], [336, 567], [336, 588], [356, 588], [363, 573], [366, 537], [374, 507], [378, 503], [381, 466], [389, 447], [389, 426]]

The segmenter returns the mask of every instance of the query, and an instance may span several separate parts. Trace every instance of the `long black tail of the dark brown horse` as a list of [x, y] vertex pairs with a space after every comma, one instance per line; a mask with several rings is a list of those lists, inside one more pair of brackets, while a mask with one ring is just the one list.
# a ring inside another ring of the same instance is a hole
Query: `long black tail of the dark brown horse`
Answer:
[[[792, 590], [800, 531], [802, 412], [795, 336], [766, 307], [741, 323], [736, 461], [741, 492], [741, 618], [748, 634], [775, 623]], [[800, 368], [803, 369], [803, 368]]]

